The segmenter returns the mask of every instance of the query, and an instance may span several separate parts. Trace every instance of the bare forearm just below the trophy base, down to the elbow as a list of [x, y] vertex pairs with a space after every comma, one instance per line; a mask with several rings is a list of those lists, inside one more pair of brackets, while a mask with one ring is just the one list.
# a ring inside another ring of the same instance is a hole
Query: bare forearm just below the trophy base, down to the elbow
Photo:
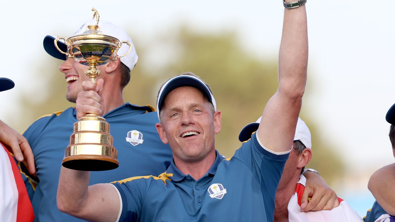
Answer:
[[56, 202], [60, 211], [76, 216], [88, 198], [89, 171], [62, 167]]

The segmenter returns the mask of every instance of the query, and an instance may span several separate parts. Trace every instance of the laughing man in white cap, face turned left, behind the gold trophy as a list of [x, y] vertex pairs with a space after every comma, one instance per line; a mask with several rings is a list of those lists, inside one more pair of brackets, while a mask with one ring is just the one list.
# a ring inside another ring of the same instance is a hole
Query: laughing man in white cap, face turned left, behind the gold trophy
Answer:
[[[95, 23], [96, 21], [84, 23], [79, 26], [80, 28], [73, 36], [82, 35], [86, 31], [87, 25], [94, 26]], [[117, 161], [120, 162], [120, 166], [117, 169], [92, 173], [90, 183], [111, 182], [146, 174], [159, 175], [170, 164], [171, 150], [168, 145], [164, 145], [160, 141], [156, 132], [155, 124], [158, 122], [156, 112], [153, 112], [147, 106], [125, 103], [122, 98], [122, 89], [128, 84], [130, 71], [137, 62], [137, 54], [132, 40], [122, 28], [115, 24], [99, 21], [98, 26], [103, 33], [117, 38], [119, 43], [128, 41], [131, 47], [124, 43], [118, 49], [117, 55], [124, 55], [128, 50], [130, 52], [112, 62], [105, 63], [105, 56], [108, 56], [109, 53], [111, 55], [112, 49], [104, 47], [104, 53], [100, 56], [104, 61], [100, 61], [102, 65], [97, 66], [98, 70], [101, 71], [98, 88], [100, 88], [102, 102], [105, 102], [105, 107], [101, 108], [100, 115], [111, 125], [111, 138], [107, 135], [107, 132], [100, 132], [96, 135], [102, 137], [99, 141], [100, 144], [105, 142], [104, 139], [107, 139], [108, 142], [111, 141], [111, 143], [113, 141], [113, 147], [117, 149]], [[60, 53], [55, 47], [55, 39], [52, 36], [46, 36], [43, 42], [44, 49], [49, 55], [64, 60], [59, 70], [64, 73], [67, 83], [66, 99], [70, 102], [76, 102], [77, 94], [82, 90], [82, 82], [89, 79], [85, 75], [89, 66], [76, 62], [73, 58], [68, 58], [68, 56]], [[69, 53], [66, 44], [61, 40], [57, 42], [60, 50]], [[111, 44], [115, 45], [115, 42]], [[90, 48], [94, 49], [93, 47]], [[92, 56], [96, 56], [98, 53], [98, 48], [95, 49]], [[87, 49], [85, 51], [84, 49], [80, 50], [81, 53], [75, 53], [76, 57], [88, 53]], [[105, 80], [104, 86], [102, 80]], [[30, 175], [26, 168], [21, 166], [26, 187], [32, 200], [36, 221], [81, 221], [60, 212], [56, 206], [60, 167], [65, 156], [65, 148], [70, 145], [70, 135], [73, 133], [73, 124], [78, 120], [77, 115], [79, 113], [73, 107], [70, 107], [62, 112], [43, 116], [36, 120], [23, 134], [32, 147], [37, 166], [36, 177]], [[87, 126], [88, 124], [80, 124], [77, 128]], [[100, 126], [105, 127], [106, 125], [100, 122]], [[77, 134], [83, 135], [82, 132], [77, 132]], [[84, 137], [80, 136], [79, 139], [84, 139]], [[72, 146], [74, 145], [71, 144], [70, 147]], [[109, 147], [109, 145], [104, 144], [103, 147]], [[89, 165], [93, 166], [93, 164], [85, 164], [85, 166]]]

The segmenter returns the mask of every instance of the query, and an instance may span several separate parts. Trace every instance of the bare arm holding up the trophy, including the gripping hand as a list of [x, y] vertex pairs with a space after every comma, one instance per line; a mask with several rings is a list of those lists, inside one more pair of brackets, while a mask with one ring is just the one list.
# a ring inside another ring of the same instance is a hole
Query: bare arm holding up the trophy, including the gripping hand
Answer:
[[[75, 109], [77, 118], [86, 113], [103, 115], [103, 79], [98, 85], [84, 81], [78, 94]], [[111, 184], [88, 186], [90, 172], [62, 167], [60, 170], [56, 202], [60, 211], [88, 221], [116, 221], [120, 211], [120, 199]]]

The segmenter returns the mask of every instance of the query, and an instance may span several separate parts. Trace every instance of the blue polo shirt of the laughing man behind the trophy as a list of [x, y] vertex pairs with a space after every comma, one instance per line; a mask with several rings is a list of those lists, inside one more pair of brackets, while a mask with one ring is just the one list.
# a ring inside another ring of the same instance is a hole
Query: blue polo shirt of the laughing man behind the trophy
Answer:
[[[35, 221], [83, 221], [60, 212], [56, 205], [60, 167], [73, 133], [73, 123], [77, 122], [75, 114], [75, 109], [70, 107], [63, 112], [41, 117], [23, 134], [32, 147], [37, 169], [38, 178], [31, 178], [23, 164], [21, 166]], [[119, 167], [91, 172], [90, 185], [131, 176], [159, 175], [170, 165], [171, 149], [160, 140], [155, 127], [159, 120], [150, 107], [125, 103], [103, 117], [110, 124], [113, 145], [118, 150]], [[37, 186], [32, 180], [39, 180]]]

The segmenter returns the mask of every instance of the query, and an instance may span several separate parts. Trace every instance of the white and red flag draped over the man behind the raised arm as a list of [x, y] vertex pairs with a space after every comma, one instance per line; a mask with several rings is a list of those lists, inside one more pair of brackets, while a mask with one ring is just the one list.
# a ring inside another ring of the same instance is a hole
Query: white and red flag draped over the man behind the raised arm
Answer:
[[360, 222], [362, 218], [348, 205], [346, 201], [339, 198], [339, 207], [330, 211], [301, 211], [301, 198], [306, 186], [306, 177], [300, 175], [296, 185], [296, 191], [288, 203], [288, 219], [290, 222]]

